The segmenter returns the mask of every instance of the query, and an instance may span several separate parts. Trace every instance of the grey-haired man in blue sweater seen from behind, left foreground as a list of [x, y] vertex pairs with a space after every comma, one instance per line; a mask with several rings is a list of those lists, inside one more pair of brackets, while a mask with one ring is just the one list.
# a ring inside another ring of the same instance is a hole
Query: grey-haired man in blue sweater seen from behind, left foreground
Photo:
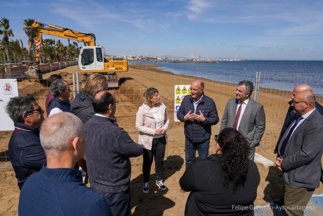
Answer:
[[73, 169], [84, 157], [85, 130], [72, 113], [48, 117], [42, 124], [40, 142], [47, 164], [25, 183], [19, 198], [19, 215], [112, 215], [105, 199], [82, 182]]

